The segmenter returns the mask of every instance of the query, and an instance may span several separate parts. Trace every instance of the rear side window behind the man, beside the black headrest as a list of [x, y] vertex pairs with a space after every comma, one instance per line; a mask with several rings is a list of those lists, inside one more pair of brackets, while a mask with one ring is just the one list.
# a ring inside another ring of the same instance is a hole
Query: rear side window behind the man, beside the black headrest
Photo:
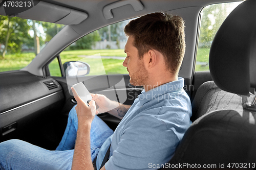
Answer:
[[209, 70], [209, 51], [214, 36], [223, 21], [242, 2], [206, 6], [201, 12], [201, 25], [197, 48], [196, 71]]

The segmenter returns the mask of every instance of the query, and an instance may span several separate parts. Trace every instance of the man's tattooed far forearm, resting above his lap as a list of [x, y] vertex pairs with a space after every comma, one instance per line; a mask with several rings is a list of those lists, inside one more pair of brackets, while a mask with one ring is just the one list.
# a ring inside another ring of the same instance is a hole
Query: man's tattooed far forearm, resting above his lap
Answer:
[[123, 116], [126, 114], [126, 112], [131, 107], [131, 105], [124, 105], [124, 104], [120, 104], [120, 103], [115, 102], [115, 101], [113, 101], [113, 105], [115, 105], [116, 107], [114, 109], [108, 111], [108, 113], [110, 113], [113, 116], [116, 116], [120, 119], [123, 118]]

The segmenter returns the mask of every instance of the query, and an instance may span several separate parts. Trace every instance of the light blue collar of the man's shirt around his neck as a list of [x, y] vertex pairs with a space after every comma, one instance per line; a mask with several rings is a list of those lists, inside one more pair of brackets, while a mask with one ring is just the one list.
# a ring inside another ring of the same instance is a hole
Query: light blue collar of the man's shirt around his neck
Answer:
[[157, 86], [151, 90], [145, 91], [144, 89], [141, 91], [141, 94], [138, 95], [138, 98], [141, 104], [145, 104], [151, 100], [158, 98], [160, 95], [163, 95], [168, 92], [179, 91], [184, 87], [184, 79], [178, 78], [178, 80], [162, 84], [161, 86]]

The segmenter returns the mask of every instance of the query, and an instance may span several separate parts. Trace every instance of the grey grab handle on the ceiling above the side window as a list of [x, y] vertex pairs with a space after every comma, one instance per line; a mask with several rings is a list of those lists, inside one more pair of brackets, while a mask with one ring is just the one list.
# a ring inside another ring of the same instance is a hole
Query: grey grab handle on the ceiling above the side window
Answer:
[[139, 0], [124, 0], [124, 1], [118, 1], [113, 4], [107, 5], [103, 8], [103, 14], [105, 19], [111, 19], [113, 18], [113, 14], [111, 12], [112, 9], [118, 8], [124, 5], [130, 4], [133, 6], [133, 9], [135, 11], [140, 11], [144, 9], [144, 6], [141, 4]]

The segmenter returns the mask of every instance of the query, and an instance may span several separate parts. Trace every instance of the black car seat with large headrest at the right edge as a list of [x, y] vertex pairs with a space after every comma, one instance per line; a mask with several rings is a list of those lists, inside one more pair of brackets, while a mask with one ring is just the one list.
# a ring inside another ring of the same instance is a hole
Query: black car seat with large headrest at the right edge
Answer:
[[255, 95], [249, 92], [256, 88], [255, 9], [255, 0], [243, 2], [217, 32], [209, 54], [214, 82], [197, 90], [191, 117], [195, 121], [163, 169], [196, 164], [197, 168], [255, 168], [256, 107], [248, 103], [255, 104]]

